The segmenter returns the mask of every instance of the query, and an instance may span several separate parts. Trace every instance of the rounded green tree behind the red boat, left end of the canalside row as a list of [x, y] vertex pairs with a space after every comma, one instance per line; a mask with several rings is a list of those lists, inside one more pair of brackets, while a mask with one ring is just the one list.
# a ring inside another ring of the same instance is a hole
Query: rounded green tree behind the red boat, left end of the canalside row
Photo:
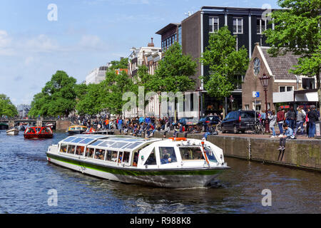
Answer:
[[41, 93], [34, 95], [29, 115], [68, 115], [76, 105], [76, 79], [56, 71]]

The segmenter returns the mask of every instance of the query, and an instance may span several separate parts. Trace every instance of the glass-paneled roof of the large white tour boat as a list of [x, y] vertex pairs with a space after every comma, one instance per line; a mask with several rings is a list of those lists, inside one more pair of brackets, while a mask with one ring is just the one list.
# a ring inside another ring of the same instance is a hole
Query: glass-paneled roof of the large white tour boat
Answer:
[[70, 143], [81, 146], [89, 147], [103, 147], [107, 150], [135, 150], [146, 143], [156, 142], [161, 139], [148, 139], [136, 138], [132, 136], [120, 136], [120, 135], [85, 135], [78, 134], [72, 135], [59, 143]]

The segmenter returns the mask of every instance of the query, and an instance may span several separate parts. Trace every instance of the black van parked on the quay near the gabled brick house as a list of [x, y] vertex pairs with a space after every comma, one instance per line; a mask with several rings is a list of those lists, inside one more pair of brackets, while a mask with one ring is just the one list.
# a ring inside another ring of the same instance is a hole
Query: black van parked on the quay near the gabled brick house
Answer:
[[221, 123], [222, 133], [233, 131], [245, 133], [245, 130], [253, 129], [255, 124], [255, 112], [251, 110], [236, 110], [228, 113]]

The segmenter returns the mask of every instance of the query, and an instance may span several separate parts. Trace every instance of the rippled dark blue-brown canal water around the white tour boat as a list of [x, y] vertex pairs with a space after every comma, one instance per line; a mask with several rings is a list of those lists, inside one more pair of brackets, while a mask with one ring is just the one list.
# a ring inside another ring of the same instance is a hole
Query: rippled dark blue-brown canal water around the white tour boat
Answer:
[[[142, 187], [49, 164], [49, 145], [66, 136], [25, 140], [23, 132], [9, 136], [1, 130], [0, 213], [321, 213], [319, 172], [225, 157], [231, 170], [215, 187]], [[51, 190], [56, 206], [50, 204]], [[271, 205], [264, 207], [269, 195]]]

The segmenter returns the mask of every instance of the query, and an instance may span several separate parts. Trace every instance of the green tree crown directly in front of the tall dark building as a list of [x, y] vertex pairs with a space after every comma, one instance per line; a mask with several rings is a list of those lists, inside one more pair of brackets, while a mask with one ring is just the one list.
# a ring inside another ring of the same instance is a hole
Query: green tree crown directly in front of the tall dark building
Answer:
[[210, 68], [210, 75], [203, 77], [205, 90], [216, 98], [228, 97], [240, 83], [237, 76], [245, 75], [248, 69], [248, 51], [244, 46], [236, 51], [235, 36], [227, 26], [210, 33], [208, 42], [200, 58], [200, 62]]

